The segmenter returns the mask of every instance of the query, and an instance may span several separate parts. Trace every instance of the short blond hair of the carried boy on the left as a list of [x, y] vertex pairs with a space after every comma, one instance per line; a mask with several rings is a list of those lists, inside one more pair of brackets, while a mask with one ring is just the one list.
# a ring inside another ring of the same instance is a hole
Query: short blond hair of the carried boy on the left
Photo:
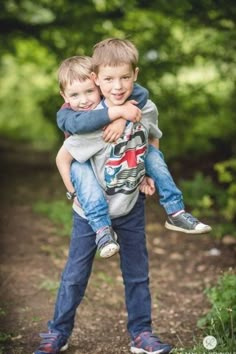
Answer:
[[63, 60], [57, 72], [60, 90], [64, 92], [67, 84], [72, 84], [74, 80], [85, 81], [91, 79], [92, 71], [91, 57], [73, 56]]

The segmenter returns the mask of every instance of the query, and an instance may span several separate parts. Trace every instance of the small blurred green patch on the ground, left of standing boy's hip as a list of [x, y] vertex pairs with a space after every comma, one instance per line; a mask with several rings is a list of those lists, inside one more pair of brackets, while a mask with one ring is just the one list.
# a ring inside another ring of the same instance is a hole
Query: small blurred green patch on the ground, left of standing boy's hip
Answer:
[[71, 204], [62, 200], [38, 201], [33, 206], [37, 213], [47, 216], [57, 226], [58, 234], [69, 236], [71, 232]]

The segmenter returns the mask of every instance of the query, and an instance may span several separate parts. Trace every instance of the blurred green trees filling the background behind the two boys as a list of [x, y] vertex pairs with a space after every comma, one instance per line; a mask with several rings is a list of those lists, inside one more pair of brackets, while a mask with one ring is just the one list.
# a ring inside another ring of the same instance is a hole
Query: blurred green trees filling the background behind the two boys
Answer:
[[128, 38], [139, 49], [139, 83], [157, 104], [161, 149], [181, 177], [185, 199], [199, 215], [235, 221], [235, 1], [5, 0], [0, 6], [2, 137], [57, 147], [58, 65], [91, 55], [103, 38]]

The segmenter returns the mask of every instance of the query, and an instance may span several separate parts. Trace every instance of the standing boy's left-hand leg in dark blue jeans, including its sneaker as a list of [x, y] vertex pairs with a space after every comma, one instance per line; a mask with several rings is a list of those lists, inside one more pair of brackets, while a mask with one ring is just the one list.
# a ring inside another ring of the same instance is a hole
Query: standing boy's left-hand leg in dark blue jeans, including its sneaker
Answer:
[[72, 237], [48, 333], [35, 354], [59, 353], [67, 345], [74, 327], [76, 309], [83, 299], [96, 253], [94, 232], [86, 219], [74, 212]]

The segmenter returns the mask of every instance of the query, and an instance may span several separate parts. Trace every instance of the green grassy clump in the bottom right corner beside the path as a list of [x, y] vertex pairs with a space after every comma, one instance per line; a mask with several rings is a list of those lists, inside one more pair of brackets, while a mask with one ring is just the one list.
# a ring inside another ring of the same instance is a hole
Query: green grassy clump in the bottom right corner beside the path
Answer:
[[[198, 321], [206, 333], [214, 335], [221, 345], [233, 349], [236, 344], [236, 274], [221, 276], [216, 286], [206, 290], [212, 305], [209, 313]], [[224, 348], [224, 349], [226, 349]]]

